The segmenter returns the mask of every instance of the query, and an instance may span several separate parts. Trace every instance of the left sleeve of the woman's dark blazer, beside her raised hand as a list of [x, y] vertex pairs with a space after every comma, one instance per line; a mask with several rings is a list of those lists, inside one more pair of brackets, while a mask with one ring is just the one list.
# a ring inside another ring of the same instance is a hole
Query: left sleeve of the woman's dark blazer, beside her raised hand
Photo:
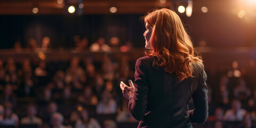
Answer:
[[148, 103], [149, 83], [147, 81], [146, 67], [141, 59], [135, 65], [134, 94], [129, 97], [129, 111], [132, 116], [141, 121], [146, 113]]

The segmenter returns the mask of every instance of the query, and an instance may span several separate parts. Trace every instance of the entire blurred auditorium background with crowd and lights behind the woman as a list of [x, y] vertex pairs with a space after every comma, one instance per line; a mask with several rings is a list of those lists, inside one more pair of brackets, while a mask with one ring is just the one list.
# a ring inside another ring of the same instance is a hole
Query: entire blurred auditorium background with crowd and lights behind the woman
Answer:
[[209, 118], [193, 127], [255, 127], [255, 0], [0, 0], [0, 127], [137, 127], [119, 83], [163, 7], [204, 60]]

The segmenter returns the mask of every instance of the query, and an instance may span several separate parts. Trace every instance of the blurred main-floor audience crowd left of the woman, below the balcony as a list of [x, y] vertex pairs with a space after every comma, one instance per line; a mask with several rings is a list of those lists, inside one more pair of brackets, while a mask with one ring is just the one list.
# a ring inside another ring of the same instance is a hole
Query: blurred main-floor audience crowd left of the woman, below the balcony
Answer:
[[[100, 63], [74, 57], [62, 66], [50, 62], [0, 61], [0, 125], [38, 124], [42, 127], [117, 127], [137, 123], [121, 81], [134, 79], [127, 57], [113, 62], [108, 54]], [[132, 64], [133, 65], [133, 64]]]

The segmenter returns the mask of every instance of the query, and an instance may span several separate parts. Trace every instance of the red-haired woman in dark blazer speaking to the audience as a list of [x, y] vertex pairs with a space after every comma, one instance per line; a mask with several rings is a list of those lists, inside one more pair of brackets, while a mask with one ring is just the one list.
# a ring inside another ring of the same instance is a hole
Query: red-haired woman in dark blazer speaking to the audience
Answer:
[[[146, 57], [135, 65], [131, 87], [121, 82], [138, 127], [192, 127], [208, 117], [206, 74], [179, 16], [161, 9], [144, 18]], [[194, 110], [188, 110], [190, 98]]]

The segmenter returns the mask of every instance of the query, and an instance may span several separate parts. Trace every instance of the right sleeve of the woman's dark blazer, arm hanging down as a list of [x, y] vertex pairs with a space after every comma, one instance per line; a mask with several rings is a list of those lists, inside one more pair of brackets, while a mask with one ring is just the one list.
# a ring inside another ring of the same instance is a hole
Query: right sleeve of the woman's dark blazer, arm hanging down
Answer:
[[208, 118], [208, 102], [207, 102], [207, 75], [203, 68], [201, 81], [193, 94], [194, 110], [189, 112], [189, 119], [191, 123], [204, 123]]

